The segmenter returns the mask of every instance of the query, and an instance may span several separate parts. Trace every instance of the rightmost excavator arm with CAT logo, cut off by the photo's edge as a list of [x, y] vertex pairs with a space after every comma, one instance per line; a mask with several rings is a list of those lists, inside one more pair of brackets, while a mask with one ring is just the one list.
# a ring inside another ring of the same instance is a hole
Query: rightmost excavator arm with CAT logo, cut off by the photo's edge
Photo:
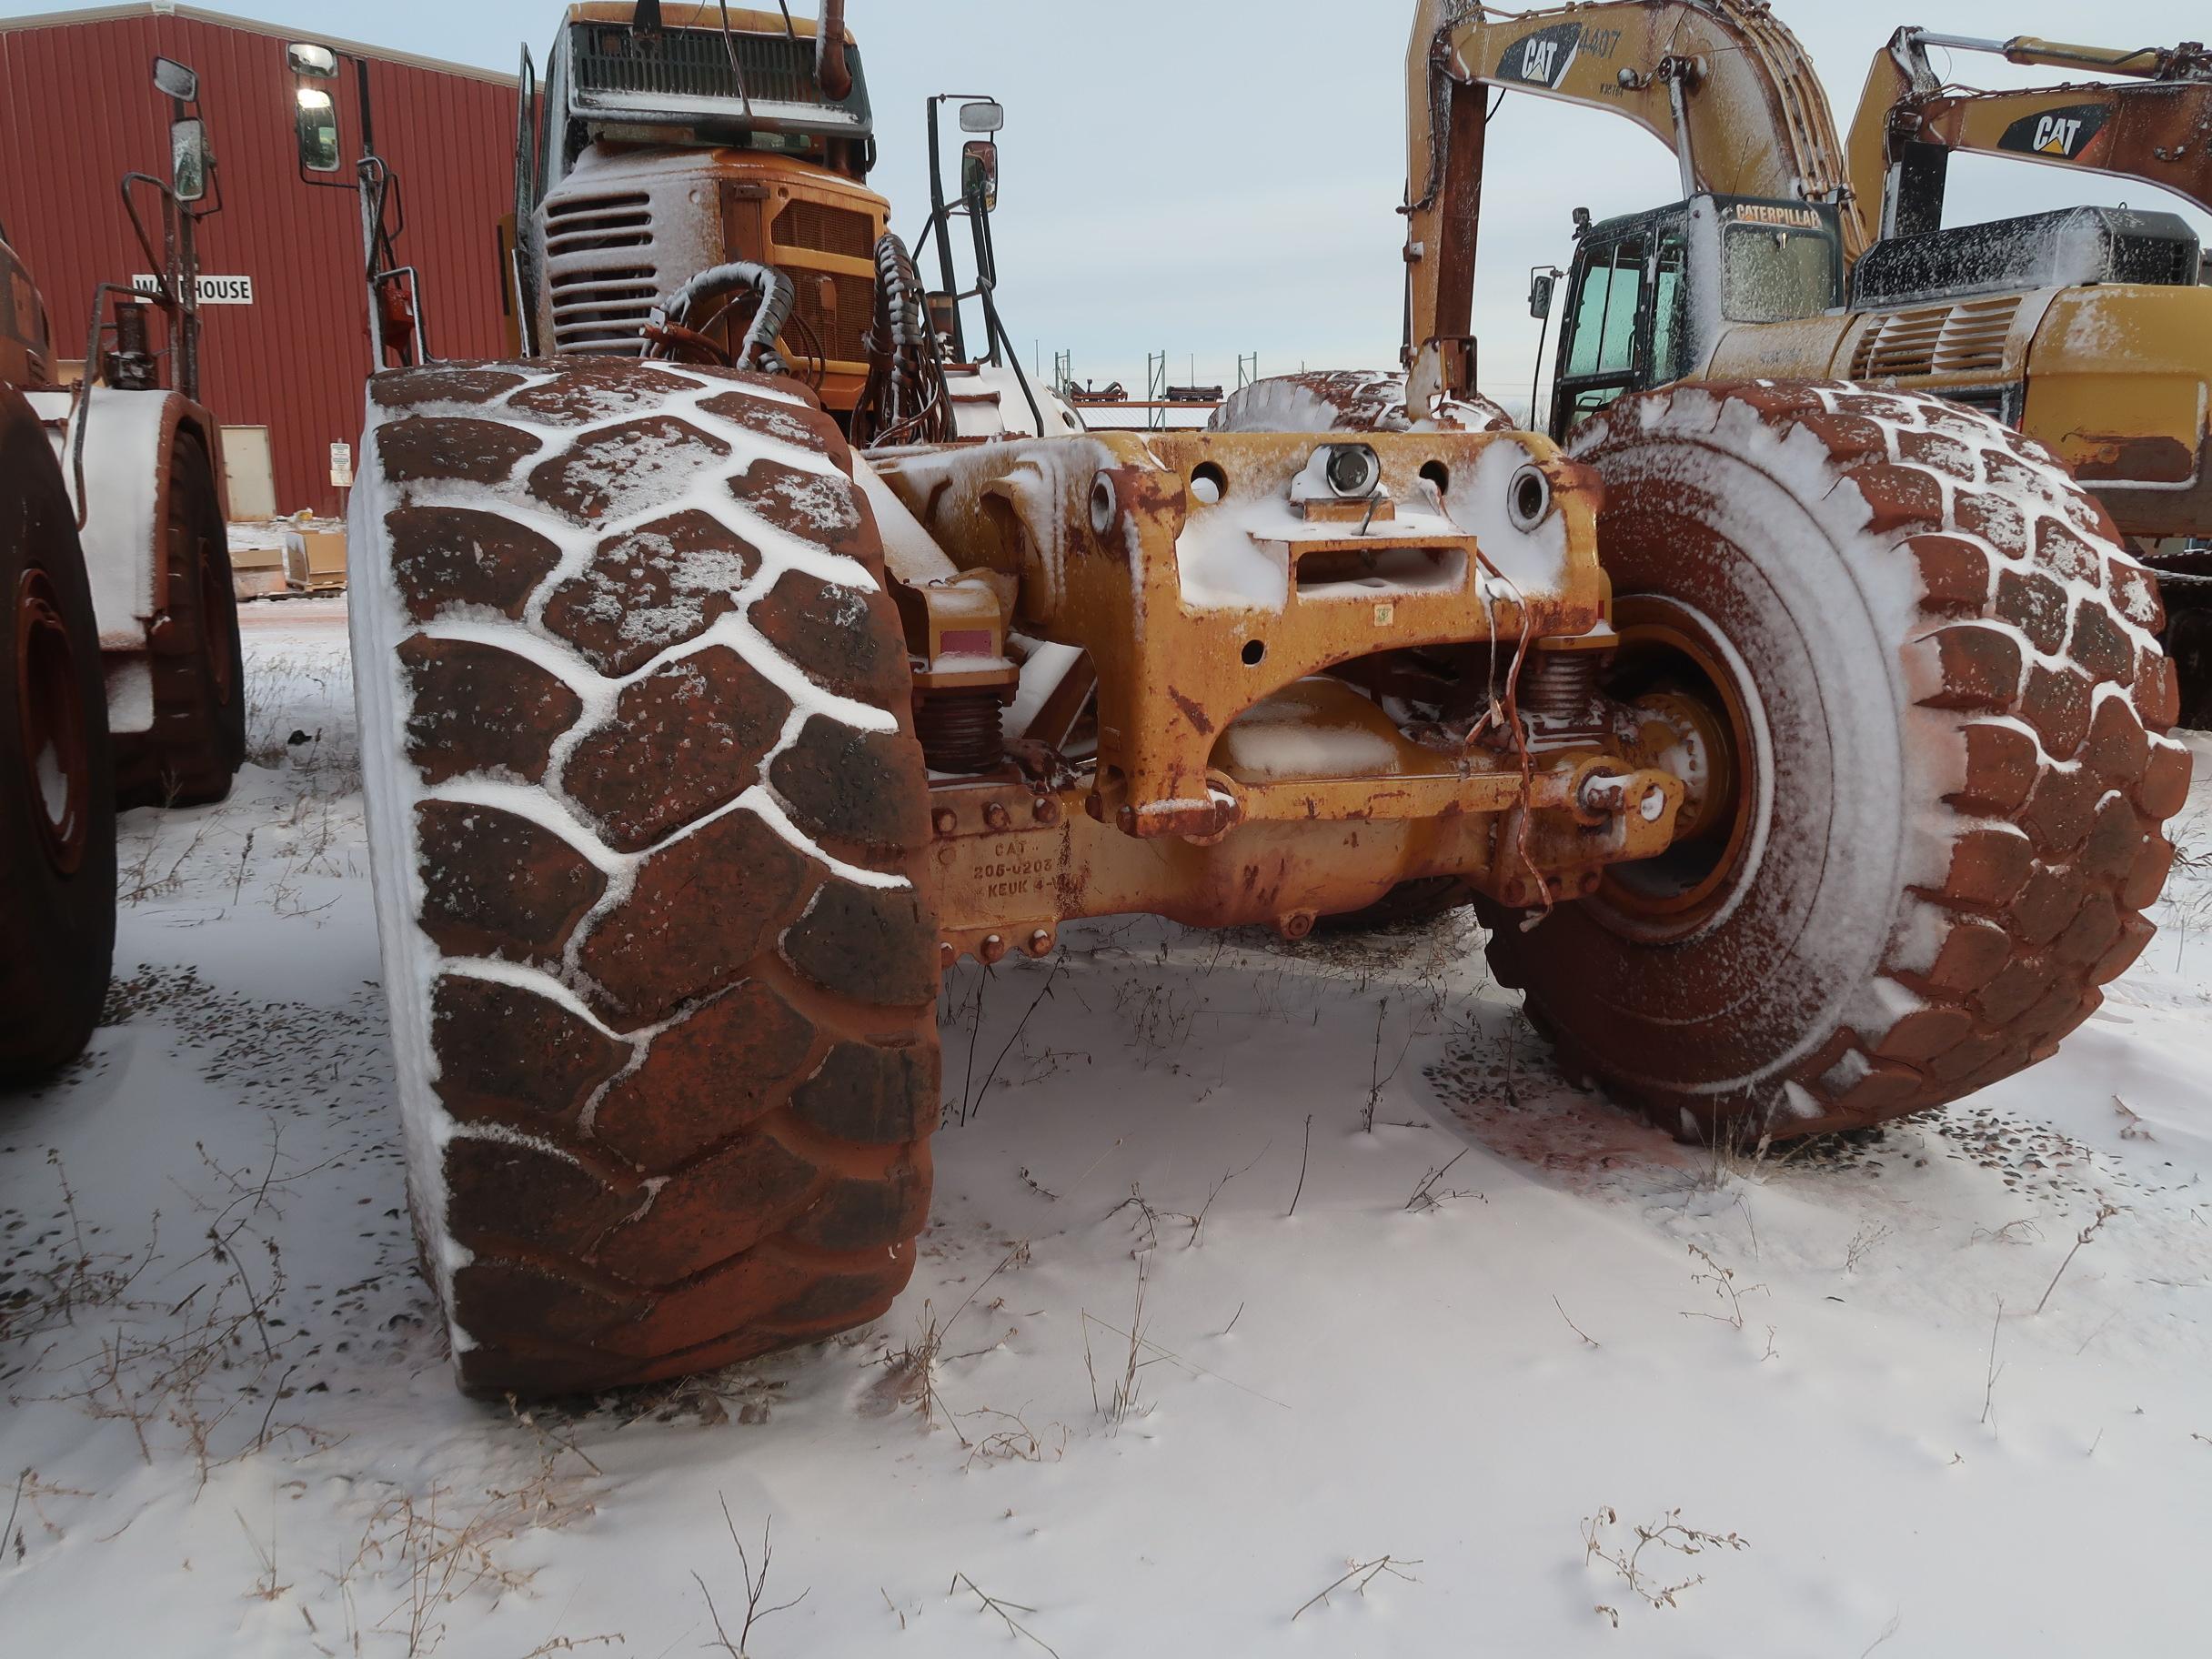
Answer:
[[[1944, 84], [1929, 64], [1938, 46], [2126, 80], [1982, 93]], [[2108, 51], [1900, 29], [1874, 60], [1849, 137], [1854, 197], [1867, 217], [1878, 204], [1878, 237], [1942, 228], [1960, 150], [2141, 179], [2212, 212], [2212, 53], [2197, 42]]]

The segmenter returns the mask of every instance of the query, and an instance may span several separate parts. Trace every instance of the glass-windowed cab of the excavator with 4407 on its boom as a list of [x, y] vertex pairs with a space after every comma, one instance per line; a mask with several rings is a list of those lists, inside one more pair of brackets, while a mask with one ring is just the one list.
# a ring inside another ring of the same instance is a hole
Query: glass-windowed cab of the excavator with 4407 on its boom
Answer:
[[1697, 372], [1732, 323], [1845, 301], [1834, 206], [1697, 195], [1582, 232], [1566, 281], [1548, 429], [1564, 440], [1619, 398]]

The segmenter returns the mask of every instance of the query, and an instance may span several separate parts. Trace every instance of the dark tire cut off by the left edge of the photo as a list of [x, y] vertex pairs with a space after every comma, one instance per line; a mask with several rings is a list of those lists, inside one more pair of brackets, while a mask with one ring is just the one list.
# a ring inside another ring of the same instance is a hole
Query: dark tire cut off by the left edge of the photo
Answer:
[[62, 469], [0, 387], [0, 1084], [73, 1060], [115, 958], [100, 624]]

